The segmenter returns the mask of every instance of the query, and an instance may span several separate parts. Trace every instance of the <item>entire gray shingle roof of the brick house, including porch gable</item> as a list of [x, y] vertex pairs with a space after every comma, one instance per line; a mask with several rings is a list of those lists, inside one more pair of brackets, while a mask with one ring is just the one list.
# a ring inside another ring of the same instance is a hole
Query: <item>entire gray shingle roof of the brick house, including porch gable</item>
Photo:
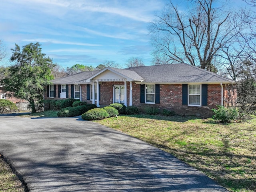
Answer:
[[[226, 77], [191, 66], [189, 64], [168, 64], [126, 69], [104, 68], [101, 71], [86, 71], [52, 80], [53, 84], [87, 84], [92, 79], [101, 80], [102, 74], [110, 72], [117, 74], [127, 81], [138, 83], [231, 83]], [[111, 79], [109, 79], [111, 80]]]

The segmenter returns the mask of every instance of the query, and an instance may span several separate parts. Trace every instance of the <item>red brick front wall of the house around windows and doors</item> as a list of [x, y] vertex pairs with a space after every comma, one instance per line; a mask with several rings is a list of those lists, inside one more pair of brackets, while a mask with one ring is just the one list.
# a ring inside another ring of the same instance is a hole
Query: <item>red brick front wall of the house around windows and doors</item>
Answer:
[[[124, 82], [100, 82], [100, 106], [108, 106], [113, 103], [113, 85], [124, 85]], [[96, 86], [96, 85], [95, 85]], [[69, 85], [69, 98], [71, 97], [71, 86]], [[129, 106], [130, 83], [127, 82], [127, 105]], [[82, 101], [92, 103], [87, 100], [87, 85], [81, 85]], [[224, 93], [226, 93], [224, 86]], [[56, 85], [56, 98], [58, 98], [58, 85]], [[212, 108], [221, 104], [221, 86], [220, 84], [208, 84], [208, 106], [182, 106], [182, 84], [160, 84], [160, 104], [140, 103], [140, 84], [132, 83], [132, 105], [144, 108], [152, 106], [156, 108], [173, 110], [177, 114], [188, 114], [198, 116], [212, 116]]]

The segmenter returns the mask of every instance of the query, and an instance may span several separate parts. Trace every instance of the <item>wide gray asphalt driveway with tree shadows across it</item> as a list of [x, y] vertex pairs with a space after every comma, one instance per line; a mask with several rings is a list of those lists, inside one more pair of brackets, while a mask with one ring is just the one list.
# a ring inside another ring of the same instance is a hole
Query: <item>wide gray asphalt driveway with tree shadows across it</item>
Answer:
[[81, 118], [0, 116], [0, 152], [31, 192], [226, 191], [174, 156]]

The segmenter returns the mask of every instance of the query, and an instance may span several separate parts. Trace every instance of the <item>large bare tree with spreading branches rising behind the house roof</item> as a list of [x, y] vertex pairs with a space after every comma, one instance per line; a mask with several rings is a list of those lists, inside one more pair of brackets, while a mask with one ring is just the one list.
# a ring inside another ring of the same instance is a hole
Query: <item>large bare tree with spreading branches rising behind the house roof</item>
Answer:
[[149, 26], [155, 64], [182, 62], [202, 69], [212, 68], [214, 56], [238, 31], [235, 30], [238, 26], [228, 23], [231, 13], [223, 7], [214, 7], [213, 1], [192, 0], [191, 6], [195, 6], [186, 13], [172, 2], [166, 5]]

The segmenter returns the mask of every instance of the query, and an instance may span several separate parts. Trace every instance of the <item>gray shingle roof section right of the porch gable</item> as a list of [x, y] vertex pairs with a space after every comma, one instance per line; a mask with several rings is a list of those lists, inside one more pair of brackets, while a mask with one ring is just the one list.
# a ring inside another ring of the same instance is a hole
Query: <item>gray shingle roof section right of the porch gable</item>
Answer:
[[145, 79], [144, 82], [232, 82], [228, 78], [185, 63], [130, 67], [126, 70], [136, 72]]

